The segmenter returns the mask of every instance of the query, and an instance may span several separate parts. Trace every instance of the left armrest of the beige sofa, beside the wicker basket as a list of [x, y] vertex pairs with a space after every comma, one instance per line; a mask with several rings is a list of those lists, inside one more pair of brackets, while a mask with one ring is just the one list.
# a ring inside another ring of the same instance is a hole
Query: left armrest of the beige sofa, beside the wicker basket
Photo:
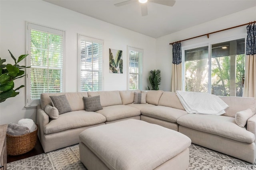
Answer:
[[44, 126], [49, 123], [49, 116], [44, 112], [39, 104], [37, 106], [37, 123], [38, 123], [38, 137], [40, 142], [42, 143], [42, 139], [44, 136]]

